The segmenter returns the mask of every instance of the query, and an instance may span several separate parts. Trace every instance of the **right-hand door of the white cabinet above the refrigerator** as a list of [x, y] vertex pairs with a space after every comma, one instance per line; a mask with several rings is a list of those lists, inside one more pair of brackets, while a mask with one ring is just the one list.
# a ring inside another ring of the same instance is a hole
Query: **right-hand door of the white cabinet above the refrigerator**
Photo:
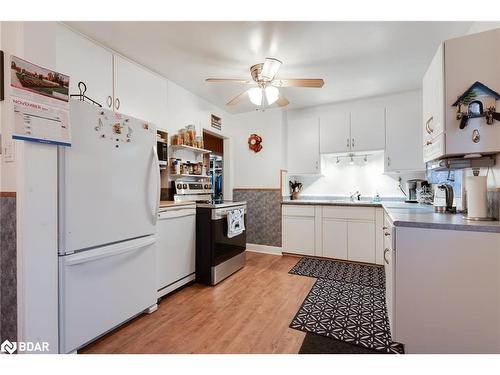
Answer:
[[114, 78], [116, 111], [166, 128], [166, 79], [117, 55], [114, 56]]

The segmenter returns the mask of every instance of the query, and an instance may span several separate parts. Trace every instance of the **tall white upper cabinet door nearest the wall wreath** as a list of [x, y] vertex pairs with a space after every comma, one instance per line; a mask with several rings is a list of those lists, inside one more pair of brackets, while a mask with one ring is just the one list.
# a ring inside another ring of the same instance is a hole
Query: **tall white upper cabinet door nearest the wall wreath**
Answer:
[[287, 158], [289, 174], [318, 174], [319, 119], [316, 116], [288, 118]]

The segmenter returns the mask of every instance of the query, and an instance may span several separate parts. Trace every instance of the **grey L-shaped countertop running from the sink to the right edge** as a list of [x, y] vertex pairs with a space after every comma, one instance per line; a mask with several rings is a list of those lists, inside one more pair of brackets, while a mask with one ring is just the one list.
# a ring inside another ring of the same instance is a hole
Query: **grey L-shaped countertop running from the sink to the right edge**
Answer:
[[466, 220], [462, 214], [441, 214], [434, 212], [434, 206], [405, 203], [401, 200], [387, 200], [381, 202], [371, 200], [350, 201], [349, 199], [297, 199], [283, 200], [283, 205], [329, 205], [353, 207], [383, 207], [394, 226], [410, 228], [428, 228], [461, 230], [473, 232], [500, 233], [500, 221], [471, 221]]

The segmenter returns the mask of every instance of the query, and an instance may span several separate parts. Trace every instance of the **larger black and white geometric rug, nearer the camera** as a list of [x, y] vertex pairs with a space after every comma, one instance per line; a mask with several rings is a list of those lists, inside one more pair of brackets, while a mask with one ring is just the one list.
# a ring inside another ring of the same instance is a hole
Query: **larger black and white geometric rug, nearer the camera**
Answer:
[[403, 345], [391, 340], [382, 288], [318, 279], [290, 328], [383, 353], [404, 353]]

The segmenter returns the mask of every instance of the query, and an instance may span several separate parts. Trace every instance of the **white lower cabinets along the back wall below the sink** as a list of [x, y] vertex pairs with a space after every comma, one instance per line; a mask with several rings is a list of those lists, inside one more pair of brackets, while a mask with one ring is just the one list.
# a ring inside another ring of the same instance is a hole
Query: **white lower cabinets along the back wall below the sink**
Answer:
[[[383, 264], [382, 208], [283, 205], [283, 252]], [[379, 254], [380, 253], [380, 254]]]

